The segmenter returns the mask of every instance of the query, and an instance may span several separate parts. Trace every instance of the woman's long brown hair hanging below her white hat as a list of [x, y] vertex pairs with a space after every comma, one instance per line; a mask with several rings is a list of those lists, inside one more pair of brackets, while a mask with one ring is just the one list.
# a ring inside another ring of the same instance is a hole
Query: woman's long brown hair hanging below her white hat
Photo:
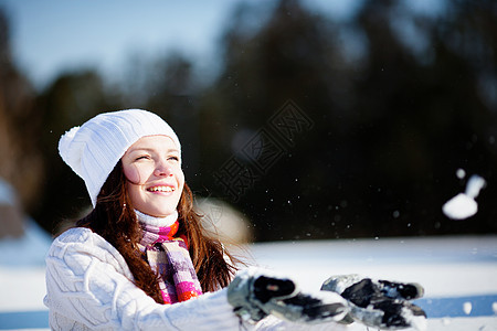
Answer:
[[[126, 181], [119, 161], [102, 186], [95, 209], [80, 220], [76, 226], [88, 227], [110, 243], [125, 258], [135, 278], [135, 285], [157, 302], [163, 303], [158, 275], [141, 258], [138, 248], [141, 228], [127, 192]], [[226, 287], [236, 271], [234, 264], [239, 260], [203, 229], [201, 215], [193, 209], [193, 195], [187, 183], [178, 204], [178, 235], [187, 237], [189, 253], [203, 291]]]

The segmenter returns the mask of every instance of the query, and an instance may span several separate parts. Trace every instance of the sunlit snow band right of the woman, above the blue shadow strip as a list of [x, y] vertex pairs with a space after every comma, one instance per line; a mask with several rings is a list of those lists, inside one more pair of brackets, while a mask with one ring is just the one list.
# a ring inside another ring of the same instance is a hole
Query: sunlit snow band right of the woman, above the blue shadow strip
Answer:
[[497, 237], [309, 241], [250, 247], [258, 266], [316, 290], [332, 275], [421, 284], [425, 297], [497, 293]]

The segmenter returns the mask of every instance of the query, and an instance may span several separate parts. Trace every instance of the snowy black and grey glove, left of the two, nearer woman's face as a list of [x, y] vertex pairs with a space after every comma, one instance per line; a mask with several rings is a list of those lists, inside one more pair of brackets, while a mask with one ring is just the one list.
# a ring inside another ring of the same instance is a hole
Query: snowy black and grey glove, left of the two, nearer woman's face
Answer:
[[255, 322], [267, 314], [302, 323], [337, 321], [349, 309], [337, 293], [304, 293], [292, 279], [255, 269], [236, 275], [228, 288], [228, 301], [242, 319]]

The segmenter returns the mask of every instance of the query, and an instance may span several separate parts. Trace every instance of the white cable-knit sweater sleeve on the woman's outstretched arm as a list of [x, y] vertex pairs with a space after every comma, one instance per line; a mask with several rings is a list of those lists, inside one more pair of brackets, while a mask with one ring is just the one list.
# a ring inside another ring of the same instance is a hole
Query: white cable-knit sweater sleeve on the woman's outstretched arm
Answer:
[[133, 282], [123, 256], [86, 228], [57, 237], [46, 256], [53, 330], [239, 330], [226, 291], [159, 305]]

